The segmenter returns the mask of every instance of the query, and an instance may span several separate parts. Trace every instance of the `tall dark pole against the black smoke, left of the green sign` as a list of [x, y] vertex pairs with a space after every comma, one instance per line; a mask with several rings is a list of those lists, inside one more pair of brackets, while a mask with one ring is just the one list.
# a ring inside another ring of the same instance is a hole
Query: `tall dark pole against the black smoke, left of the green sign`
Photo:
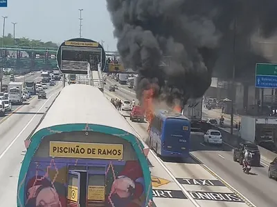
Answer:
[[237, 17], [234, 20], [233, 26], [233, 76], [232, 76], [232, 90], [231, 90], [231, 135], [233, 135], [233, 115], [234, 115], [234, 104], [235, 104], [235, 43], [237, 38]]

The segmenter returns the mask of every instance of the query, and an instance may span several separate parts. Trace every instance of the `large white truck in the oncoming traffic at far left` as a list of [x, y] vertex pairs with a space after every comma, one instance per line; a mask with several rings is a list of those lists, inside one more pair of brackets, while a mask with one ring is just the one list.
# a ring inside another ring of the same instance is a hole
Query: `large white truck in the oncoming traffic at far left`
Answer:
[[10, 103], [22, 104], [23, 90], [24, 90], [23, 82], [10, 82], [8, 84], [8, 93], [9, 93]]

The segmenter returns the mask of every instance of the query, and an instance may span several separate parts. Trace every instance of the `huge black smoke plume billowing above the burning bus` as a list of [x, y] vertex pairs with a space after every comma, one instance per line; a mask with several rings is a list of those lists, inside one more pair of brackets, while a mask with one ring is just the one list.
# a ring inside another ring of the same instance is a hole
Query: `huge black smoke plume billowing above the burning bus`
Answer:
[[230, 78], [234, 37], [235, 77], [253, 75], [266, 60], [249, 49], [251, 35], [274, 34], [276, 8], [276, 0], [107, 0], [120, 57], [140, 75], [137, 97], [152, 85], [168, 103], [202, 97], [213, 72]]

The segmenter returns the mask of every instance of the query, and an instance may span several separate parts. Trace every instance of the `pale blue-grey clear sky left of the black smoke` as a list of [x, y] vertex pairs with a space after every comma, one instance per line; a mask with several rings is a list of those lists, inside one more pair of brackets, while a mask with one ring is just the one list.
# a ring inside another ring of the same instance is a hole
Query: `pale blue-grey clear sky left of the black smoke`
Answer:
[[[13, 34], [12, 22], [17, 22], [15, 37], [28, 37], [62, 43], [79, 37], [80, 11], [82, 37], [104, 41], [105, 50], [116, 51], [112, 26], [105, 0], [8, 0], [8, 8], [0, 8], [6, 19], [5, 34]], [[3, 18], [0, 19], [3, 25]], [[0, 26], [1, 34], [3, 27]]]

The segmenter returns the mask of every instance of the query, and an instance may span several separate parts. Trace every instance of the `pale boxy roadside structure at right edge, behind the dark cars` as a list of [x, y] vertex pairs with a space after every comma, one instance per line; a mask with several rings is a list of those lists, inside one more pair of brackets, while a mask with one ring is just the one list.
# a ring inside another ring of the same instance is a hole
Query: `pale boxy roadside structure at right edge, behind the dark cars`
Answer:
[[242, 116], [240, 137], [267, 150], [275, 151], [277, 149], [276, 129], [276, 117]]

